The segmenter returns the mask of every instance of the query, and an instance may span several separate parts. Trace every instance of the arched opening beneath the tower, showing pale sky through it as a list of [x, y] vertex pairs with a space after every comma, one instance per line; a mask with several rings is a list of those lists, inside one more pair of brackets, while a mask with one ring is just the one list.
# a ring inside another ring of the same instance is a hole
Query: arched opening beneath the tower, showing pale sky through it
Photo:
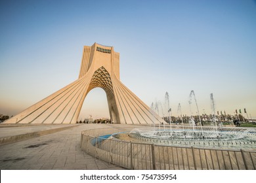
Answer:
[[77, 122], [93, 122], [97, 119], [110, 119], [106, 92], [99, 87], [93, 88], [85, 97]]

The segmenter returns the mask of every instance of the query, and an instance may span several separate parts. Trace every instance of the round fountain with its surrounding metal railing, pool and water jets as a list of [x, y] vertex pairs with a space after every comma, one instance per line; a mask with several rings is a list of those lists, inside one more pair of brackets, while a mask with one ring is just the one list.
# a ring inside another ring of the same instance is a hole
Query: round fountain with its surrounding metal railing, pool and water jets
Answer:
[[[213, 93], [210, 99], [211, 124], [204, 120], [205, 125], [202, 125], [192, 90], [188, 102], [189, 120], [186, 115], [182, 116], [181, 103], [178, 105], [181, 125], [92, 129], [82, 133], [81, 147], [95, 158], [128, 169], [255, 169], [256, 129], [217, 125]], [[192, 115], [192, 101], [197, 116]], [[159, 110], [161, 104], [156, 102], [155, 105], [152, 103], [152, 109]], [[165, 105], [169, 108], [167, 92]]]

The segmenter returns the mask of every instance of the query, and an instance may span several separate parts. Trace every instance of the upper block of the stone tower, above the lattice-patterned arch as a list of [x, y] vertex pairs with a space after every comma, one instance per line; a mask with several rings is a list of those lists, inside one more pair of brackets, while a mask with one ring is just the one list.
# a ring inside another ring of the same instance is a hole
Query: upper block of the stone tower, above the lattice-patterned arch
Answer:
[[100, 67], [104, 67], [110, 76], [115, 75], [119, 79], [119, 53], [114, 52], [113, 46], [103, 46], [96, 42], [92, 46], [83, 46], [79, 78], [89, 70], [93, 69], [94, 72]]

